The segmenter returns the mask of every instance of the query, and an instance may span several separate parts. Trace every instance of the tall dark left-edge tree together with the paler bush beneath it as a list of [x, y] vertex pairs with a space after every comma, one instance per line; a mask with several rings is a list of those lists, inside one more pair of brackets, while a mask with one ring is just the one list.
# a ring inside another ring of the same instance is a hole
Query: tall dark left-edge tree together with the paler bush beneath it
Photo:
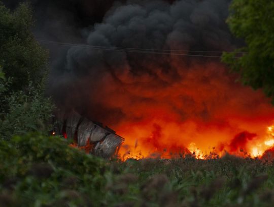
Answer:
[[44, 95], [47, 51], [31, 33], [27, 4], [14, 12], [0, 2], [0, 138], [47, 132], [53, 104]]

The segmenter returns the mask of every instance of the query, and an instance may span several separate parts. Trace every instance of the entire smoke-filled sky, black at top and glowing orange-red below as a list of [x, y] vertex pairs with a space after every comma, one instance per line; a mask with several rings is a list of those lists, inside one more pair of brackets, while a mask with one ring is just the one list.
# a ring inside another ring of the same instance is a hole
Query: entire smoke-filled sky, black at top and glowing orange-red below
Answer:
[[[32, 1], [40, 40], [210, 56], [242, 44], [225, 23], [229, 3]], [[218, 57], [47, 47], [48, 91], [58, 106], [109, 125], [128, 145], [138, 140], [143, 153], [189, 145], [248, 150], [274, 117], [269, 100], [236, 82]]]

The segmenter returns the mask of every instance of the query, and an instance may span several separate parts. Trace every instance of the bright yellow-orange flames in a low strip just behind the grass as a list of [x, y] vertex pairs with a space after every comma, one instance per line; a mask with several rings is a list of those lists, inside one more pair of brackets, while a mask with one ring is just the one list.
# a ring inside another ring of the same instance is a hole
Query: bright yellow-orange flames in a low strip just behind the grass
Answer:
[[[262, 137], [258, 137], [258, 135], [256, 134], [243, 132], [236, 135], [234, 139], [232, 139], [230, 144], [220, 144], [218, 147], [212, 147], [211, 149], [210, 147], [208, 147], [208, 151], [201, 150], [195, 142], [190, 142], [187, 145], [187, 147], [184, 147], [183, 145], [177, 147], [168, 146], [168, 144], [166, 144], [165, 142], [165, 138], [160, 137], [161, 134], [165, 134], [165, 136], [168, 137], [168, 133], [163, 131], [159, 127], [154, 127], [156, 131], [152, 132], [152, 134], [150, 134], [147, 138], [144, 138], [147, 136], [146, 133], [148, 132], [146, 130], [146, 127], [143, 128], [143, 130], [133, 130], [132, 136], [134, 132], [138, 137], [143, 136], [143, 139], [147, 141], [147, 144], [143, 143], [140, 145], [138, 139], [135, 139], [133, 145], [129, 144], [123, 146], [120, 150], [120, 155], [122, 155], [123, 160], [129, 158], [139, 160], [142, 158], [155, 156], [159, 158], [172, 158], [178, 156], [185, 156], [187, 154], [196, 159], [211, 159], [219, 158], [227, 152], [242, 157], [261, 158], [265, 151], [271, 149], [271, 147], [274, 146], [274, 125], [266, 127], [265, 134], [262, 135]], [[174, 132], [177, 132], [178, 129], [173, 130]], [[207, 137], [207, 135], [205, 135], [204, 137]], [[165, 145], [166, 148], [162, 149], [162, 146], [160, 147], [159, 143], [157, 143], [157, 140], [154, 140], [155, 138], [159, 138], [161, 141], [163, 141], [163, 145]], [[205, 141], [208, 141], [208, 139], [205, 138]], [[233, 143], [233, 141], [235, 142], [235, 144], [239, 144], [238, 146], [236, 145], [236, 148], [232, 148], [231, 144]], [[210, 141], [208, 142], [210, 143]], [[130, 141], [128, 141], [127, 143], [130, 143]], [[149, 147], [151, 144], [154, 144], [155, 147]]]

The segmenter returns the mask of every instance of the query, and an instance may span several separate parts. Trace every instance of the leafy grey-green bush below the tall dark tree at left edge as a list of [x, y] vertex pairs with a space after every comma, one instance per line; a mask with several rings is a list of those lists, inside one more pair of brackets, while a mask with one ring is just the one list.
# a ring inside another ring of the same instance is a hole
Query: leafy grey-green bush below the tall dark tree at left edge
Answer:
[[[0, 91], [0, 95], [2, 95]], [[13, 135], [31, 131], [40, 131], [47, 134], [52, 125], [51, 113], [53, 104], [50, 98], [43, 94], [43, 88], [35, 88], [32, 82], [25, 91], [3, 95], [0, 101], [0, 137], [10, 139]], [[2, 119], [1, 119], [2, 118]]]

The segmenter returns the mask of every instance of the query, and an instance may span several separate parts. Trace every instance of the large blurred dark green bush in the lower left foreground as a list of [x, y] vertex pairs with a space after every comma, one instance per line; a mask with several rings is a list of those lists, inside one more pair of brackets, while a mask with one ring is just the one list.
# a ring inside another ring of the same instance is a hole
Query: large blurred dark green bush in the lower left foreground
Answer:
[[63, 138], [28, 134], [2, 140], [0, 159], [0, 203], [78, 206], [102, 196], [104, 161], [73, 149]]

